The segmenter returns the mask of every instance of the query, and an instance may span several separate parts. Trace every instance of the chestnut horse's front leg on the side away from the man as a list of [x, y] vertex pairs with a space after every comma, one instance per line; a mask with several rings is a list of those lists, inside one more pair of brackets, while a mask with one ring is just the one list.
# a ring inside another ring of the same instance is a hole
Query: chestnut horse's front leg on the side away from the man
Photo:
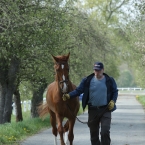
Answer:
[[64, 129], [63, 129], [63, 126], [62, 126], [62, 121], [63, 121], [63, 117], [61, 117], [60, 115], [56, 115], [56, 119], [57, 119], [57, 125], [58, 125], [58, 132], [59, 132], [59, 135], [60, 135], [60, 141], [61, 141], [61, 145], [65, 145], [64, 143], [64, 139], [63, 139], [63, 132], [64, 132]]

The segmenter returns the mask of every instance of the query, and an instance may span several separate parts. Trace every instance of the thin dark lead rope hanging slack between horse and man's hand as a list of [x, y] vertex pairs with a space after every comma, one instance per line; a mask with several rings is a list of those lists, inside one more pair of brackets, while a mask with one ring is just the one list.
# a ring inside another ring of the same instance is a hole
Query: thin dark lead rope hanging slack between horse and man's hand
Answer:
[[[66, 103], [66, 106], [68, 107], [68, 109], [70, 110], [71, 112], [71, 115], [73, 117], [75, 117], [80, 123], [83, 123], [83, 124], [88, 124], [88, 122], [84, 122], [84, 121], [81, 121], [77, 116], [74, 115], [73, 111], [71, 110], [70, 106], [68, 105], [68, 103]], [[102, 114], [100, 115], [100, 118], [103, 116], [103, 114], [108, 110], [108, 105], [105, 107], [105, 109], [102, 111]], [[89, 120], [89, 122], [92, 122], [93, 120], [96, 119], [96, 117], [98, 116], [99, 113], [97, 113], [95, 115], [95, 117], [92, 119], [92, 120]]]

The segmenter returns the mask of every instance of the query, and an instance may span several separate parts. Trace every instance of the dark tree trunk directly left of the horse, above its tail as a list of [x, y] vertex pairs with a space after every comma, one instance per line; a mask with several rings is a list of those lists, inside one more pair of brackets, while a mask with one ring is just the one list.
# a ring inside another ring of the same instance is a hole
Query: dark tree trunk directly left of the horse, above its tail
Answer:
[[32, 116], [32, 118], [39, 117], [37, 107], [43, 101], [43, 93], [44, 93], [46, 87], [47, 87], [47, 84], [43, 84], [37, 90], [33, 91], [33, 97], [31, 100], [31, 116]]

